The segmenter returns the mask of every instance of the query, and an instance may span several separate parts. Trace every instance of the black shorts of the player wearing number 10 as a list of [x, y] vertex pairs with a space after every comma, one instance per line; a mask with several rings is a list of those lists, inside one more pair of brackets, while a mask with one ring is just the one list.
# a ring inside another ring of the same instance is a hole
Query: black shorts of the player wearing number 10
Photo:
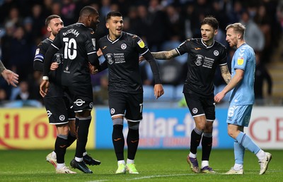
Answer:
[[93, 87], [89, 85], [69, 86], [66, 88], [75, 112], [93, 109]]

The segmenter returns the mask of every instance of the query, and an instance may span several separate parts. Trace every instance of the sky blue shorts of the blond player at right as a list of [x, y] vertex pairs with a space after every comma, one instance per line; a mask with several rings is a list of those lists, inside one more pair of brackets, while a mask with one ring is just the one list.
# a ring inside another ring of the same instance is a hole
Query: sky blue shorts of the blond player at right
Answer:
[[248, 127], [253, 104], [250, 105], [230, 105], [227, 114], [227, 123]]

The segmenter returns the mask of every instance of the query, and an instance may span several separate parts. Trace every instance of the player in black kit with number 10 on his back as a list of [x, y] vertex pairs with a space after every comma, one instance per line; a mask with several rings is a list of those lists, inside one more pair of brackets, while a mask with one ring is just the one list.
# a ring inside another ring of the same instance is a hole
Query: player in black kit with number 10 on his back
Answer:
[[40, 84], [40, 94], [45, 97], [50, 87], [48, 75], [52, 56], [62, 48], [62, 85], [67, 87], [76, 119], [79, 120], [79, 126], [76, 129], [78, 136], [76, 154], [70, 165], [87, 174], [93, 173], [83, 161], [93, 108], [93, 91], [88, 63], [99, 66], [94, 38], [94, 31], [99, 23], [98, 18], [99, 14], [95, 8], [85, 6], [80, 11], [78, 23], [59, 31], [45, 54], [43, 78]]

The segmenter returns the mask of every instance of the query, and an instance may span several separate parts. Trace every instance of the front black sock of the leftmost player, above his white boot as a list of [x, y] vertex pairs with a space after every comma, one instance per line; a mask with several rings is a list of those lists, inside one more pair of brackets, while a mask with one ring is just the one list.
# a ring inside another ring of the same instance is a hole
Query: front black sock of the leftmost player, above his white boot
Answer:
[[57, 163], [62, 164], [64, 163], [64, 157], [66, 154], [66, 149], [68, 145], [67, 136], [65, 135], [57, 135], [56, 141], [55, 141], [55, 150], [56, 150], [56, 156], [57, 156]]

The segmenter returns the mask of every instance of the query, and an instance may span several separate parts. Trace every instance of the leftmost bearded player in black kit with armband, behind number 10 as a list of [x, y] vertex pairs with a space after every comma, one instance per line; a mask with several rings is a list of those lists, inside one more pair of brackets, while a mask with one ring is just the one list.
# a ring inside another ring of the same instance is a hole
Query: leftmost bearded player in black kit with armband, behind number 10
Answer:
[[[46, 18], [45, 25], [47, 31], [50, 32], [50, 37], [40, 42], [37, 46], [33, 62], [34, 70], [40, 72], [43, 71], [45, 53], [59, 30], [63, 27], [63, 21], [60, 16], [51, 15]], [[57, 173], [74, 174], [75, 172], [69, 170], [64, 164], [66, 148], [76, 140], [76, 128], [74, 109], [72, 109], [69, 97], [67, 93], [64, 92], [64, 87], [62, 87], [61, 83], [62, 53], [63, 51], [60, 49], [53, 56], [52, 60], [54, 62], [51, 64], [50, 69], [52, 71], [50, 71], [49, 75], [50, 89], [43, 99], [50, 124], [54, 124], [57, 127], [57, 139], [54, 146], [55, 150], [47, 155], [46, 160], [55, 167]], [[86, 151], [83, 153], [83, 160], [88, 165], [100, 164], [98, 160], [92, 159]]]

